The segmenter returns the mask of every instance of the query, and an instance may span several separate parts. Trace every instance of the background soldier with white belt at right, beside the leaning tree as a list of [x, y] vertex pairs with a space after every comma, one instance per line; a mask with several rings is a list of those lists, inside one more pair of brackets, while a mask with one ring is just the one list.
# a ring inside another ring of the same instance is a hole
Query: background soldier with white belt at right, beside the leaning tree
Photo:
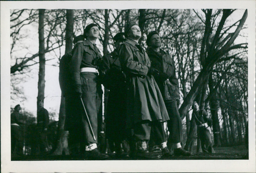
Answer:
[[193, 102], [193, 113], [196, 125], [197, 125], [197, 136], [201, 140], [201, 147], [204, 153], [215, 153], [212, 148], [212, 119], [208, 116], [205, 110], [199, 110], [199, 106], [196, 101]]

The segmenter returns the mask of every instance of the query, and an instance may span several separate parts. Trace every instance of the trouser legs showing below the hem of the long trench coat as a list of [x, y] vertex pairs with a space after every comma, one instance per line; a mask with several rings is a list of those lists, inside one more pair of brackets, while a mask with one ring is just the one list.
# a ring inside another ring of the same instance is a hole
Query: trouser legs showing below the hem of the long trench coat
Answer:
[[146, 141], [148, 142], [150, 139], [150, 131], [151, 127], [155, 132], [154, 138], [156, 140], [156, 144], [160, 145], [161, 143], [166, 141], [166, 135], [164, 132], [164, 125], [158, 121], [148, 122], [142, 121], [136, 123], [133, 126], [133, 138], [135, 141]]

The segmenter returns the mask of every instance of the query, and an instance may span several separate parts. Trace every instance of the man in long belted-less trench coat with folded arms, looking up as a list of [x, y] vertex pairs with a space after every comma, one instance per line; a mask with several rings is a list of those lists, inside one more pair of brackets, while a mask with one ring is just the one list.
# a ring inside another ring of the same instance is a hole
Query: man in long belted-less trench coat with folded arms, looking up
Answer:
[[137, 23], [130, 23], [125, 29], [127, 40], [121, 44], [119, 58], [122, 70], [126, 75], [127, 93], [127, 128], [133, 129], [130, 142], [131, 156], [145, 159], [158, 159], [158, 154], [148, 151], [151, 126], [158, 128], [156, 142], [162, 148], [166, 147], [165, 132], [161, 123], [169, 120], [164, 100], [156, 84], [153, 74], [158, 74], [151, 63], [146, 51], [138, 44], [141, 37], [140, 27]]

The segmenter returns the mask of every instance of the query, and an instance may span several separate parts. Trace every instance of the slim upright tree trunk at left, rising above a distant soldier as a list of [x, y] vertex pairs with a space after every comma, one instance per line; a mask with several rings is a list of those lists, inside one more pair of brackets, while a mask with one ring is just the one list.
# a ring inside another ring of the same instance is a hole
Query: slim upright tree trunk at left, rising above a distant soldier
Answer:
[[44, 12], [45, 9], [39, 9], [39, 72], [38, 72], [38, 95], [37, 95], [37, 110], [39, 100], [44, 100], [45, 87], [45, 57], [44, 57]]

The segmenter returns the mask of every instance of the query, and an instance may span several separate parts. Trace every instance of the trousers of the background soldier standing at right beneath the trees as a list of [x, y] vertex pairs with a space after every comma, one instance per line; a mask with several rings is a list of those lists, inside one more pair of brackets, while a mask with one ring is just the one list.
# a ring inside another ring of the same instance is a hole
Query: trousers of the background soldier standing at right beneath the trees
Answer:
[[209, 130], [206, 130], [204, 127], [199, 127], [197, 135], [201, 140], [201, 147], [204, 153], [215, 153], [212, 148], [212, 135]]

